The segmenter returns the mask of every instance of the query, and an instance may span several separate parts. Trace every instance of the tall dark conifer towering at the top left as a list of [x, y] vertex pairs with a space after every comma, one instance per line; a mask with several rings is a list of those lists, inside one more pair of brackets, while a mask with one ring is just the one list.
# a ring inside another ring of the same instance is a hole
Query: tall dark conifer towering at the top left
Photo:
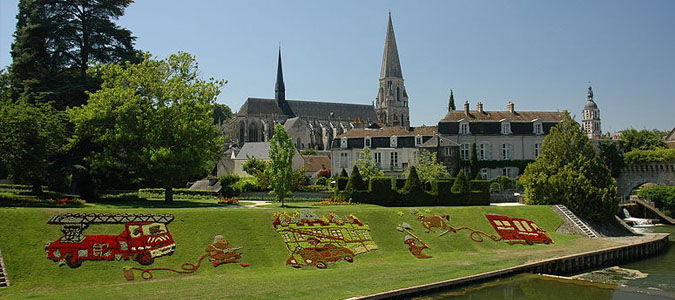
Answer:
[[96, 63], [137, 61], [131, 32], [113, 21], [131, 0], [21, 0], [12, 44], [13, 98], [58, 109], [86, 102]]

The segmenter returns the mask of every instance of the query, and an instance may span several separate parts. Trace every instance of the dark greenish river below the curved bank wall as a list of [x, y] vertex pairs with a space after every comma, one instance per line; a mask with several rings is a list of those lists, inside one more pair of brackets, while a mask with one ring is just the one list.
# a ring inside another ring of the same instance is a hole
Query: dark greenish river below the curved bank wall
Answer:
[[[638, 230], [671, 233], [670, 245], [666, 252], [652, 258], [620, 265], [620, 268], [601, 270], [581, 276], [587, 280], [521, 274], [503, 280], [448, 290], [415, 299], [675, 299], [675, 226], [654, 226], [639, 228]], [[593, 282], [588, 280], [593, 280]]]

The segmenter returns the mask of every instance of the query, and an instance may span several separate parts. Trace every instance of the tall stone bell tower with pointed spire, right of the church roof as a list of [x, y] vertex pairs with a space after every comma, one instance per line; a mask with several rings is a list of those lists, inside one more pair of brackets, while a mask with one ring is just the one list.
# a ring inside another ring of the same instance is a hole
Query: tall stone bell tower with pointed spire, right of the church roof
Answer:
[[391, 13], [389, 13], [387, 37], [384, 41], [380, 89], [375, 102], [375, 113], [378, 121], [384, 126], [410, 126], [408, 93], [403, 84], [403, 73], [401, 72], [401, 63], [398, 60]]

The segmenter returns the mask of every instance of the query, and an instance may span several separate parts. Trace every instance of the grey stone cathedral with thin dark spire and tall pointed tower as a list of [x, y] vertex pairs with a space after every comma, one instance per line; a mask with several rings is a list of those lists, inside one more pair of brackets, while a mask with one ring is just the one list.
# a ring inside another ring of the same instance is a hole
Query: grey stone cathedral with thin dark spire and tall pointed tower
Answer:
[[280, 50], [274, 99], [246, 99], [223, 131], [229, 144], [241, 147], [246, 142], [268, 141], [278, 122], [284, 125], [297, 149], [330, 150], [333, 139], [350, 129], [408, 127], [409, 116], [408, 93], [390, 13], [375, 105], [287, 100]]

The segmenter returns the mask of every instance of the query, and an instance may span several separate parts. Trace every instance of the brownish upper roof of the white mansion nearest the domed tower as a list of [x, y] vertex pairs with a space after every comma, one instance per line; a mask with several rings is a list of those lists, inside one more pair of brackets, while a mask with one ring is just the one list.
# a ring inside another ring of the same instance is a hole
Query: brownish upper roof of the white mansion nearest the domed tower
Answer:
[[483, 111], [470, 110], [469, 115], [464, 114], [463, 110], [451, 111], [445, 115], [441, 122], [457, 122], [465, 119], [469, 122], [480, 121], [500, 121], [502, 119], [511, 120], [511, 122], [532, 122], [539, 119], [542, 122], [559, 122], [562, 120], [562, 113], [556, 111]]

